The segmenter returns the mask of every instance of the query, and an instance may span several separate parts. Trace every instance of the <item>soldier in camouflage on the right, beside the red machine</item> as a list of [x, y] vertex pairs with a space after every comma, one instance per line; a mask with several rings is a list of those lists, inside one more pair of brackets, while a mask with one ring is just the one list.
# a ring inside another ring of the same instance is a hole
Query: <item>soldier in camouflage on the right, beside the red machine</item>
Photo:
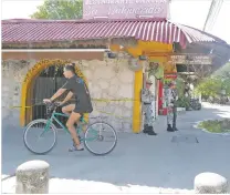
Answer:
[[[178, 92], [176, 89], [176, 83], [170, 82], [167, 88], [167, 131], [168, 132], [175, 132], [178, 131], [176, 127], [177, 122], [177, 106], [176, 101], [178, 99]], [[169, 111], [170, 110], [170, 111]]]

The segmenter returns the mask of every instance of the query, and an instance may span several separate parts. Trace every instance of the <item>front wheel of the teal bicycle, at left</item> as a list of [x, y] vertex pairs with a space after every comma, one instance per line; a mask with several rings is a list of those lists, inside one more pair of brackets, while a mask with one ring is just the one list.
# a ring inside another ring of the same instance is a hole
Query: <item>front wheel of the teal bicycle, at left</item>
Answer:
[[56, 144], [56, 131], [48, 120], [34, 120], [28, 124], [23, 142], [25, 147], [34, 154], [46, 154]]

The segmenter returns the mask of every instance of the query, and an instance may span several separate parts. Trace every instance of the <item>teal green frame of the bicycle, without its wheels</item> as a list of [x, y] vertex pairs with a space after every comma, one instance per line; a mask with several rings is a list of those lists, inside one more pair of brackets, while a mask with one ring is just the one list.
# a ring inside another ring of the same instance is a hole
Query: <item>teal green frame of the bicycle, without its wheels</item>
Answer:
[[[50, 130], [50, 125], [53, 124], [53, 121], [55, 121], [65, 132], [67, 132], [70, 134], [69, 130], [64, 126], [64, 124], [61, 121], [59, 121], [59, 119], [56, 116], [69, 117], [69, 115], [66, 115], [66, 114], [58, 113], [58, 112], [54, 111], [52, 113], [51, 117], [48, 120], [48, 123], [46, 123], [46, 125], [44, 127], [44, 132], [42, 132], [42, 134], [45, 133], [45, 132], [48, 132]], [[86, 125], [86, 121], [84, 120], [84, 116], [80, 119], [80, 122], [82, 122], [82, 123], [84, 123]], [[83, 131], [82, 124], [79, 123], [77, 124], [77, 129], [76, 129], [77, 134], [81, 131]], [[94, 137], [90, 137], [90, 138], [83, 138], [82, 137], [81, 140], [87, 140], [87, 141], [94, 141], [94, 140], [96, 140], [97, 138], [97, 132], [95, 130], [93, 130], [92, 133], [94, 134]]]

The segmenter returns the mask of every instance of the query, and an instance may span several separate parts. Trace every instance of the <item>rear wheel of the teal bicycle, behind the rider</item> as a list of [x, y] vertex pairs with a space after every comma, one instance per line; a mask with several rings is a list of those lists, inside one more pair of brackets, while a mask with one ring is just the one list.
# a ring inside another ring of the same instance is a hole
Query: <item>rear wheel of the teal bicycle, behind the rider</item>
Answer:
[[108, 154], [115, 148], [116, 143], [116, 131], [107, 123], [93, 123], [85, 132], [84, 145], [92, 154]]

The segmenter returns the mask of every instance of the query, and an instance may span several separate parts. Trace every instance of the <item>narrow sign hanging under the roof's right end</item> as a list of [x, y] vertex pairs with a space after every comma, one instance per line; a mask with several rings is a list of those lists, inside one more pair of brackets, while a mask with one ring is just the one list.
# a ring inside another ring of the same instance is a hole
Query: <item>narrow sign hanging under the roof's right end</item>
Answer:
[[212, 63], [211, 57], [208, 55], [171, 55], [172, 63], [176, 64], [207, 64]]

